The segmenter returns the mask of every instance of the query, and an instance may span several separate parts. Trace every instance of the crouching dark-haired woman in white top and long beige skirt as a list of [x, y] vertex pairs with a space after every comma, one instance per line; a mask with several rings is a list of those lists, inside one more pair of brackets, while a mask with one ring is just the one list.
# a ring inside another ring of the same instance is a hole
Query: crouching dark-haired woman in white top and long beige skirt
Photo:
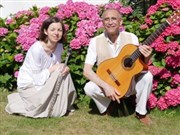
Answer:
[[[43, 22], [39, 40], [30, 47], [19, 70], [18, 93], [8, 95], [5, 109], [9, 114], [60, 117], [74, 110], [76, 90], [69, 68], [61, 63], [64, 40], [65, 28], [59, 18], [50, 17]], [[62, 77], [59, 88], [58, 77]], [[55, 89], [57, 97], [52, 96]]]

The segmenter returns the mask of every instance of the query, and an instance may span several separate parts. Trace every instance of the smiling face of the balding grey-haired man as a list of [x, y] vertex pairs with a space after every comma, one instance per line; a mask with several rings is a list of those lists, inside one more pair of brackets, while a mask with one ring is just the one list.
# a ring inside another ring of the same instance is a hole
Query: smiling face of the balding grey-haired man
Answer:
[[119, 28], [122, 24], [121, 15], [116, 10], [107, 10], [104, 12], [103, 17], [103, 25], [107, 34], [118, 34]]

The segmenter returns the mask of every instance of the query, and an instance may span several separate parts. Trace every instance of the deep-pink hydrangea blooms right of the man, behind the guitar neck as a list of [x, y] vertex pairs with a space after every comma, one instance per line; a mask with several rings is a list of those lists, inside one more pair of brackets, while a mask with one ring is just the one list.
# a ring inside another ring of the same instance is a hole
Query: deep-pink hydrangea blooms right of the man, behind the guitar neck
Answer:
[[149, 66], [154, 76], [153, 92], [148, 101], [151, 109], [158, 107], [165, 110], [180, 105], [180, 39], [177, 38], [180, 35], [180, 25], [176, 23], [180, 20], [178, 17], [168, 20], [170, 16], [176, 17], [173, 11], [179, 6], [178, 0], [158, 0], [148, 9], [145, 23], [140, 26], [143, 30], [155, 31], [164, 18], [169, 22], [169, 26], [151, 44], [155, 52]]

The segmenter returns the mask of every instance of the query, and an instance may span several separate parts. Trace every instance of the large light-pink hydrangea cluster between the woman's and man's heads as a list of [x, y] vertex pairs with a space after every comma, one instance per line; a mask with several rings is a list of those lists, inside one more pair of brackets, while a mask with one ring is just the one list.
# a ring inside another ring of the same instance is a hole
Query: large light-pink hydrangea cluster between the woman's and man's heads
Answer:
[[80, 49], [87, 46], [89, 39], [101, 27], [98, 8], [85, 2], [73, 3], [71, 0], [68, 0], [66, 4], [59, 5], [56, 16], [65, 20], [74, 18], [76, 27], [68, 26], [69, 29], [74, 27], [74, 35], [70, 41], [70, 47], [73, 49]]

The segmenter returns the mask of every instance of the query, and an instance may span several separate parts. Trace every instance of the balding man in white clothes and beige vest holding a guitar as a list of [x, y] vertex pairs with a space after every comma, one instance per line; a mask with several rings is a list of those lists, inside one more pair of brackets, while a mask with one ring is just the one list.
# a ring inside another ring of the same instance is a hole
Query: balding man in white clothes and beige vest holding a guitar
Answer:
[[[126, 44], [139, 45], [138, 38], [133, 33], [120, 32], [122, 25], [121, 14], [115, 9], [107, 9], [102, 15], [104, 33], [91, 39], [84, 65], [84, 76], [90, 81], [85, 85], [85, 93], [91, 97], [101, 114], [108, 110], [111, 101], [119, 102], [121, 95], [116, 88], [100, 79], [93, 71], [96, 63], [118, 56]], [[139, 51], [143, 55], [144, 63], [148, 63], [152, 48], [147, 45], [140, 45]], [[151, 124], [152, 121], [147, 115], [146, 105], [151, 93], [153, 76], [149, 71], [143, 71], [133, 77], [126, 97], [136, 93], [136, 117], [144, 124]]]

